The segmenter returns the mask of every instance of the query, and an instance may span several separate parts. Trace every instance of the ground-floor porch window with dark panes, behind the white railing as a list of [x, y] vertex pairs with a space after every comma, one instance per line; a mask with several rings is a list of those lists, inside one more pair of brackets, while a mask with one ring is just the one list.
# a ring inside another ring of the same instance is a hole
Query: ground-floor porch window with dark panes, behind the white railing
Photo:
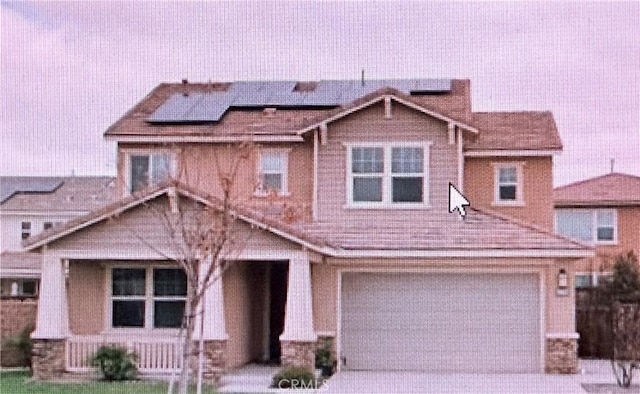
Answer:
[[112, 327], [180, 328], [187, 278], [175, 268], [111, 270]]

